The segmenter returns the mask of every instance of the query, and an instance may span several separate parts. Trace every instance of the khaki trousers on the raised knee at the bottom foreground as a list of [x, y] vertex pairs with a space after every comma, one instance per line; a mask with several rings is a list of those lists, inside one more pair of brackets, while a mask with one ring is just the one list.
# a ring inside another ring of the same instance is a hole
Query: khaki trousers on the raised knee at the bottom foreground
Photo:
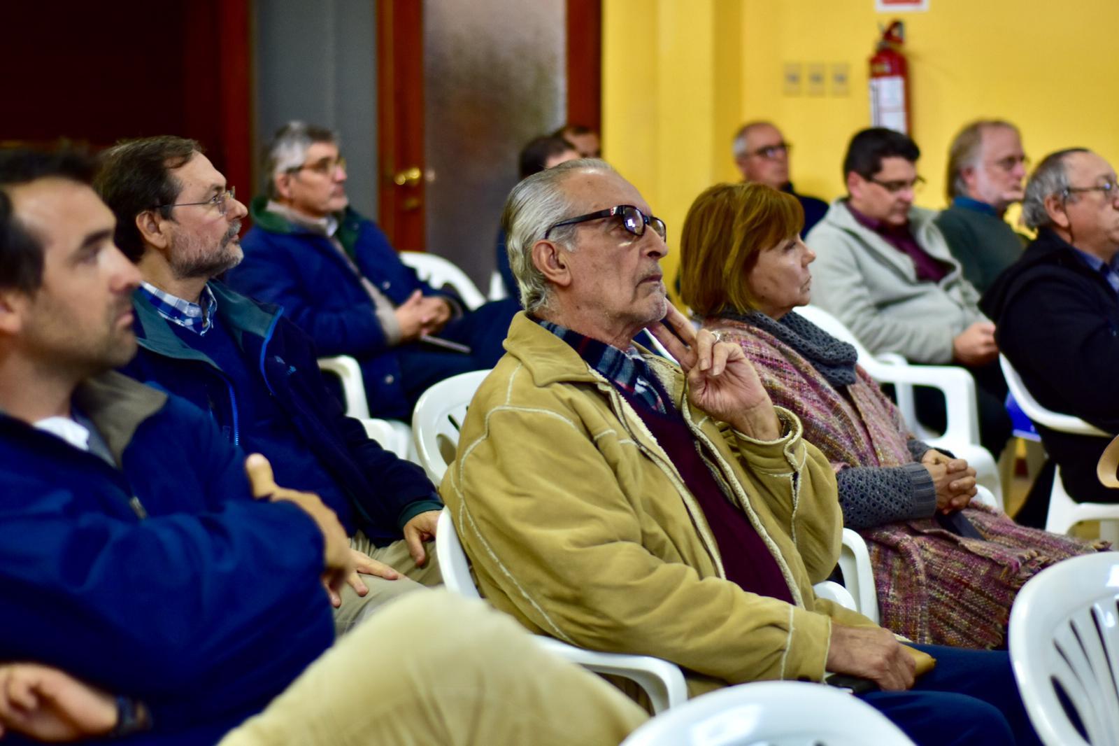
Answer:
[[435, 590], [358, 625], [220, 746], [614, 746], [647, 718], [513, 618]]

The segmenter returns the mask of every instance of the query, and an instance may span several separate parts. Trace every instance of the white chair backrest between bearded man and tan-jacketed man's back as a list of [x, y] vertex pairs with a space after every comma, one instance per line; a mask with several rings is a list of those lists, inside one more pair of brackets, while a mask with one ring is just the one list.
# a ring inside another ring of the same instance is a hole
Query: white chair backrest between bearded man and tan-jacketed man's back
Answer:
[[470, 400], [487, 375], [489, 371], [452, 375], [427, 389], [416, 402], [412, 412], [416, 457], [436, 485], [443, 481], [446, 466], [454, 460], [459, 430], [466, 420]]

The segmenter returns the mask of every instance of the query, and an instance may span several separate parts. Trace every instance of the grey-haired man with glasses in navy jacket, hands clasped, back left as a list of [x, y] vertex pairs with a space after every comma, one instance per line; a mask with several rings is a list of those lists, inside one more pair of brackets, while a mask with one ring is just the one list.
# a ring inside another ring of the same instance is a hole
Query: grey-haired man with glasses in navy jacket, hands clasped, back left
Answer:
[[[376, 223], [348, 207], [333, 132], [284, 125], [269, 144], [265, 172], [267, 196], [252, 203], [245, 261], [228, 282], [282, 306], [320, 355], [357, 358], [370, 414], [407, 419], [431, 384], [501, 356], [516, 300], [462, 314], [452, 296], [421, 282]], [[433, 335], [466, 349], [425, 342]]]

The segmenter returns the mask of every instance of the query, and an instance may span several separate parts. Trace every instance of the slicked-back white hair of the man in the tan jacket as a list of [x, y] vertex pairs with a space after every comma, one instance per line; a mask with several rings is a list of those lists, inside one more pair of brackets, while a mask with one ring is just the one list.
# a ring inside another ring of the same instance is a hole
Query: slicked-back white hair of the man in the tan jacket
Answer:
[[[610, 164], [598, 158], [568, 160], [525, 178], [513, 188], [505, 202], [501, 214], [505, 250], [509, 254], [509, 268], [520, 289], [520, 302], [529, 314], [547, 308], [552, 298], [552, 287], [533, 263], [533, 244], [544, 237], [549, 226], [577, 216], [577, 206], [572, 204], [563, 188], [563, 183], [577, 170], [617, 172]], [[574, 251], [572, 239], [575, 227], [557, 227], [548, 235], [548, 240], [567, 251]]]

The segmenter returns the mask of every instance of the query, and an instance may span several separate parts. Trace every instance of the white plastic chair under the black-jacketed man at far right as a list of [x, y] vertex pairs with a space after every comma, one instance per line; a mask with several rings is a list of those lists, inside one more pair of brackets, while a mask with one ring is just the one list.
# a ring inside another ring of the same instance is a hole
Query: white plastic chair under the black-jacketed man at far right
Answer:
[[[1034, 423], [1043, 425], [1057, 432], [1069, 432], [1072, 435], [1099, 436], [1111, 438], [1111, 436], [1099, 428], [1089, 425], [1084, 420], [1050, 411], [1037, 403], [1033, 394], [1026, 390], [1022, 383], [1022, 376], [1014, 370], [1010, 361], [1005, 355], [998, 356], [998, 363], [1003, 366], [1003, 376], [1006, 385], [1010, 390], [1010, 395], [1018, 402], [1018, 407], [1026, 413]], [[1101, 444], [1103, 445], [1103, 444]], [[1069, 495], [1061, 481], [1061, 467], [1053, 469], [1053, 488], [1050, 491], [1049, 517], [1045, 520], [1045, 530], [1053, 533], [1068, 533], [1076, 523], [1081, 521], [1119, 521], [1119, 505], [1107, 503], [1078, 503]], [[1104, 531], [1101, 526], [1101, 535], [1115, 540], [1119, 537], [1117, 526], [1112, 524], [1110, 531]]]

